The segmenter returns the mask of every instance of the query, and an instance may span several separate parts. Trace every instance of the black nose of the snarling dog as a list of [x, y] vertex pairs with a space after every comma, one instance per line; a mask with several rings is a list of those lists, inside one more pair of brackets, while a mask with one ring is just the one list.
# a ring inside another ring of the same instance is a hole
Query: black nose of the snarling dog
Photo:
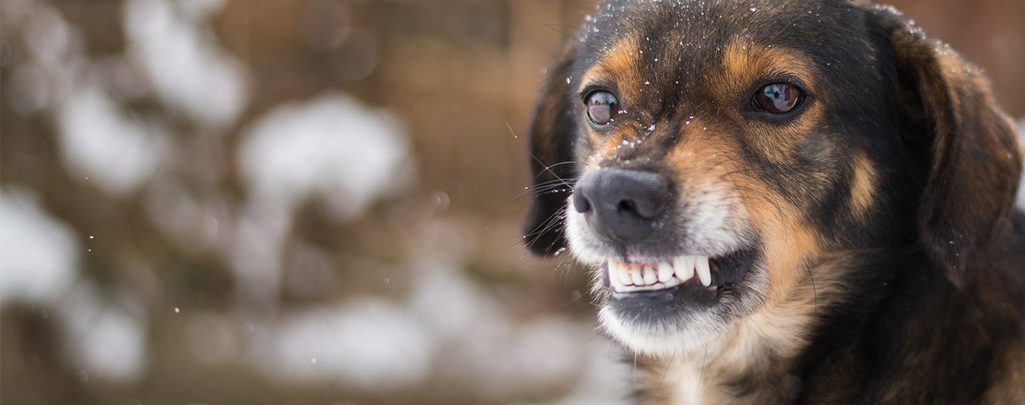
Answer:
[[573, 207], [590, 228], [622, 243], [651, 235], [671, 200], [665, 177], [638, 170], [594, 170], [580, 177], [573, 192]]

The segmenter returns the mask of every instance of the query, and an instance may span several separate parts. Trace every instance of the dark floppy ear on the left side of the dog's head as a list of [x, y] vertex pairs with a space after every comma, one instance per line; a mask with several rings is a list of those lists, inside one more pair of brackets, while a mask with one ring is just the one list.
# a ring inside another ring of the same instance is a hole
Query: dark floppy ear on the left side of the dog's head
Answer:
[[533, 196], [523, 225], [524, 243], [535, 254], [546, 256], [566, 247], [564, 222], [566, 201], [572, 191], [577, 167], [573, 163], [577, 121], [571, 108], [568, 79], [576, 58], [578, 41], [570, 40], [548, 70], [534, 106], [530, 124], [530, 159]]

